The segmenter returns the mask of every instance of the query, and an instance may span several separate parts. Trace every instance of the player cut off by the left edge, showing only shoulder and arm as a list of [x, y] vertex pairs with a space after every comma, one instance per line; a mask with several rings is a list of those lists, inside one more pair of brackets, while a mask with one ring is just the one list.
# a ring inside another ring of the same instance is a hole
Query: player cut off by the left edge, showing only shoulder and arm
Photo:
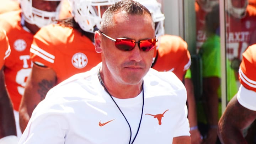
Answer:
[[11, 99], [5, 86], [4, 61], [11, 49], [4, 30], [0, 29], [0, 144], [17, 144], [17, 133]]

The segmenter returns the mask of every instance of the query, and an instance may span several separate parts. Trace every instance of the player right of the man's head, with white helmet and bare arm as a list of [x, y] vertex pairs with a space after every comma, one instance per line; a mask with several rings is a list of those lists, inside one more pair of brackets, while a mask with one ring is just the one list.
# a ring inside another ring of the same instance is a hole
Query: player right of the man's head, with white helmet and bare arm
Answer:
[[185, 79], [186, 71], [190, 68], [191, 58], [187, 49], [187, 43], [178, 36], [164, 34], [165, 16], [161, 12], [161, 4], [156, 0], [135, 0], [144, 5], [152, 14], [155, 22], [155, 32], [158, 37], [156, 51], [154, 53], [151, 68], [158, 71], [172, 71], [187, 89], [188, 119], [191, 127], [191, 142], [198, 144], [202, 142], [201, 134], [197, 128], [196, 105], [193, 94], [193, 83], [191, 79]]

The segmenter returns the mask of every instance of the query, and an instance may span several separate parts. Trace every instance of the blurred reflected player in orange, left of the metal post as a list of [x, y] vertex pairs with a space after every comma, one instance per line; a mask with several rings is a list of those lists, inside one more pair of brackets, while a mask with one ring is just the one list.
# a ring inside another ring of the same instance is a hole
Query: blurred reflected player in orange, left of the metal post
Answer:
[[195, 0], [196, 11], [196, 50], [197, 53], [206, 41], [205, 16], [219, 0]]

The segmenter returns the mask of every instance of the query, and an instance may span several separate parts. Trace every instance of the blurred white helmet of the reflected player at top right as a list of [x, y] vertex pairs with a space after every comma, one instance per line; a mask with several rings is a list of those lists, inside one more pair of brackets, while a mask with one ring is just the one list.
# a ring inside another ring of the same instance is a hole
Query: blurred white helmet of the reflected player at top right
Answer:
[[225, 0], [225, 8], [226, 11], [236, 17], [236, 18], [244, 18], [246, 15], [246, 8], [248, 5], [248, 0], [237, 0], [238, 4], [234, 5], [233, 0]]

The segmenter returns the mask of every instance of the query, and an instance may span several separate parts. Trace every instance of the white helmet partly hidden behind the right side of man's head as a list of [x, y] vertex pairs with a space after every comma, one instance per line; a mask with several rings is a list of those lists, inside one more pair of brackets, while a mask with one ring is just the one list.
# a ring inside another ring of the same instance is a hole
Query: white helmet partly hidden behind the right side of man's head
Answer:
[[161, 4], [156, 0], [135, 0], [144, 5], [150, 12], [155, 22], [155, 34], [157, 37], [164, 35], [165, 16], [161, 12]]

